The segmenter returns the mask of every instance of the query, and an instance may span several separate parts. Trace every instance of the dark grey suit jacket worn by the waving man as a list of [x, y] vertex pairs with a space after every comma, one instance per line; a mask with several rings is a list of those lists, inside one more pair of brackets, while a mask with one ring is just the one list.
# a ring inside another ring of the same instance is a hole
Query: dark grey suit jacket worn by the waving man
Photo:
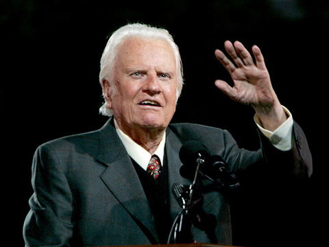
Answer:
[[[195, 124], [171, 124], [167, 128], [165, 154], [169, 189], [174, 183], [189, 185], [180, 176], [178, 155], [185, 141], [197, 140], [211, 154], [222, 156], [233, 172], [239, 173], [260, 161], [287, 161], [287, 174], [307, 177], [311, 156], [304, 133], [294, 124], [294, 144], [279, 152], [260, 134], [262, 149], [240, 149], [226, 130]], [[271, 164], [271, 162], [267, 162]], [[278, 165], [276, 163], [276, 165]], [[27, 246], [91, 246], [156, 244], [158, 234], [138, 175], [121, 143], [112, 121], [100, 130], [50, 141], [36, 150], [33, 161], [34, 194], [24, 224]], [[170, 195], [173, 218], [181, 210]], [[217, 217], [215, 240], [232, 244], [230, 207], [222, 193], [211, 191], [204, 210]], [[197, 242], [210, 242], [195, 229]], [[214, 239], [212, 239], [214, 241]]]

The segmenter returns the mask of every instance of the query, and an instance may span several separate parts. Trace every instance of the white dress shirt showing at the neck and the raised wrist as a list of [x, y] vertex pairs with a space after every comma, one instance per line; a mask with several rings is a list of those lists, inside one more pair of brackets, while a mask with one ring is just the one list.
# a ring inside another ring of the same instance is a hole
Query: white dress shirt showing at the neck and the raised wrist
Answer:
[[[284, 109], [284, 112], [287, 114], [288, 118], [286, 121], [284, 121], [283, 124], [281, 124], [273, 132], [269, 130], [265, 130], [265, 128], [263, 128], [262, 124], [260, 123], [260, 119], [256, 114], [254, 116], [254, 121], [256, 122], [256, 125], [258, 126], [260, 131], [265, 135], [265, 137], [269, 139], [269, 141], [271, 141], [274, 147], [278, 148], [278, 150], [281, 151], [288, 151], [291, 150], [291, 146], [292, 146], [291, 132], [293, 130], [293, 117], [287, 108], [285, 108], [284, 106], [282, 107]], [[146, 171], [147, 165], [149, 165], [149, 160], [151, 159], [152, 154], [150, 154], [149, 152], [147, 152], [147, 150], [145, 150], [140, 145], [135, 143], [129, 136], [127, 136], [127, 134], [123, 133], [123, 131], [119, 129], [119, 126], [115, 119], [114, 119], [114, 126], [129, 156], [132, 157], [134, 161], [136, 161], [136, 163]], [[166, 132], [164, 132], [160, 144], [158, 145], [158, 148], [154, 152], [154, 154], [156, 154], [160, 158], [161, 165], [163, 164], [165, 143], [166, 143]]]

